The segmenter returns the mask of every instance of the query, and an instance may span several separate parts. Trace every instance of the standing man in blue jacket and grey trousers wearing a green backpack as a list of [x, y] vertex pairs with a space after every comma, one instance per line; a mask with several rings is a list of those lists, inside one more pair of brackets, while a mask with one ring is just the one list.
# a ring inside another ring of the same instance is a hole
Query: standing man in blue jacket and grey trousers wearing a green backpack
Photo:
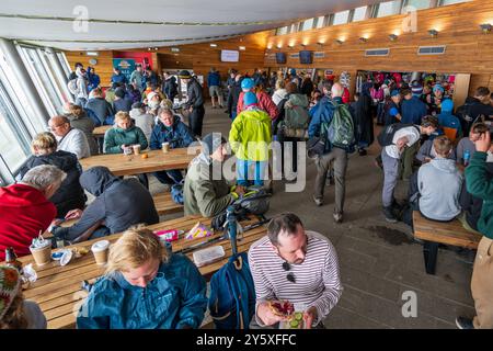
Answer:
[[[331, 124], [335, 109], [347, 109], [347, 105], [342, 102], [344, 88], [340, 83], [332, 86], [331, 82], [324, 81], [322, 86], [324, 97], [320, 101], [320, 107], [317, 110], [308, 127], [310, 138], [320, 137], [323, 132], [322, 128]], [[332, 99], [329, 94], [332, 95]], [[334, 165], [335, 204], [333, 218], [335, 223], [342, 223], [343, 219], [347, 154], [352, 151], [354, 151], [354, 145], [342, 148], [326, 140], [323, 155], [319, 155], [316, 158], [317, 178], [313, 201], [317, 206], [323, 205], [323, 190], [325, 188], [326, 173], [331, 167], [331, 162]]]

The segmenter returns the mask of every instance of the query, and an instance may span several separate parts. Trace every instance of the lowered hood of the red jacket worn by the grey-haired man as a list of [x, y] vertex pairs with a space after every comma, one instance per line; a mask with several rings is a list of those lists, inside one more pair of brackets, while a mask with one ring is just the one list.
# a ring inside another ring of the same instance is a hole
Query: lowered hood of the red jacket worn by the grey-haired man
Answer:
[[37, 189], [25, 184], [12, 184], [0, 188], [2, 207], [24, 207], [46, 204], [48, 200]]

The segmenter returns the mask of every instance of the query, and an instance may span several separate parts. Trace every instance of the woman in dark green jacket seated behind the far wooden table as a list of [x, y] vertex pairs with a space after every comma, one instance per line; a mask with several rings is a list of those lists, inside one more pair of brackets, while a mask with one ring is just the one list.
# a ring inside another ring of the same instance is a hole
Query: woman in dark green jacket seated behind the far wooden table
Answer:
[[125, 147], [140, 145], [147, 149], [148, 143], [142, 129], [133, 125], [128, 112], [121, 111], [115, 115], [115, 125], [104, 134], [104, 154], [122, 154]]

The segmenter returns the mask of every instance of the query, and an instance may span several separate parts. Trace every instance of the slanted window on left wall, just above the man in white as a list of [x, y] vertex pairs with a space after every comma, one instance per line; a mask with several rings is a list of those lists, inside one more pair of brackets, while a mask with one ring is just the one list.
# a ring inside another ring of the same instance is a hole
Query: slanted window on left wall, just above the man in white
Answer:
[[56, 76], [53, 75], [43, 50], [28, 46], [20, 46], [19, 50], [48, 113], [64, 113], [64, 94], [55, 83]]

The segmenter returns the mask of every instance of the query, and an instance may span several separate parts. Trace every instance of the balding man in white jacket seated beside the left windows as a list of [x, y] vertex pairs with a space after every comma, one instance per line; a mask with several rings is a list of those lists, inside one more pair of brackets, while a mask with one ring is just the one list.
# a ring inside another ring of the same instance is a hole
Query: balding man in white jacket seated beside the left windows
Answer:
[[55, 116], [48, 121], [49, 131], [55, 134], [58, 150], [76, 154], [78, 159], [91, 156], [89, 141], [84, 133], [70, 126], [66, 116]]

